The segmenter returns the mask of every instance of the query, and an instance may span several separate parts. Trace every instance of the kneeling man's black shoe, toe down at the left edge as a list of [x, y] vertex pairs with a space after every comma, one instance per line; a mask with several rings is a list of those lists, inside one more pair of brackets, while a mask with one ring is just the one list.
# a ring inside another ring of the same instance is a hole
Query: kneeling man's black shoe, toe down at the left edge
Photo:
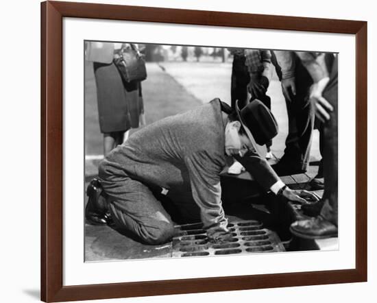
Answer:
[[98, 179], [93, 179], [86, 189], [88, 203], [85, 207], [86, 223], [90, 225], [107, 225], [110, 216], [107, 214], [106, 199], [101, 195], [102, 186]]

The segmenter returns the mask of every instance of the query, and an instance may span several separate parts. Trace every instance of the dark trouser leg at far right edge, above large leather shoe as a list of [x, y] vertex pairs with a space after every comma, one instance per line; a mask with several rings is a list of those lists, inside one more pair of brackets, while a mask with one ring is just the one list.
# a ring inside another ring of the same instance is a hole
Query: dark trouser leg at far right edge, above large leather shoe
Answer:
[[334, 111], [324, 123], [324, 207], [321, 216], [338, 225], [338, 73], [337, 59], [330, 73], [330, 82], [324, 90], [324, 98]]

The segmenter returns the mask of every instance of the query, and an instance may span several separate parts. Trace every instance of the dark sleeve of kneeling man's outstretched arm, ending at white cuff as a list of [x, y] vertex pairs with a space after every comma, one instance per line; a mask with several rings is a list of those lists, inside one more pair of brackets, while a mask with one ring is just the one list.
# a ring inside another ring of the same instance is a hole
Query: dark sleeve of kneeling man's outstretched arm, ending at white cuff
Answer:
[[234, 158], [245, 167], [246, 171], [248, 171], [256, 182], [266, 191], [269, 191], [273, 184], [280, 181], [280, 178], [272, 169], [271, 165], [269, 165], [269, 162], [252, 153], [252, 151], [247, 152], [243, 157], [234, 156]]

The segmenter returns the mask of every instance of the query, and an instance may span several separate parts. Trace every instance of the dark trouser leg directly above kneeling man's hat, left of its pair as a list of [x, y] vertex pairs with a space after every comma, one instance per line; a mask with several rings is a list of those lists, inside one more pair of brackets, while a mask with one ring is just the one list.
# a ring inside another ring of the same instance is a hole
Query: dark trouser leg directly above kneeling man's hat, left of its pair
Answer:
[[247, 84], [250, 82], [250, 75], [245, 66], [245, 58], [234, 56], [232, 65], [232, 76], [230, 84], [230, 99], [232, 108], [236, 108], [236, 100], [239, 100], [239, 108], [247, 104]]

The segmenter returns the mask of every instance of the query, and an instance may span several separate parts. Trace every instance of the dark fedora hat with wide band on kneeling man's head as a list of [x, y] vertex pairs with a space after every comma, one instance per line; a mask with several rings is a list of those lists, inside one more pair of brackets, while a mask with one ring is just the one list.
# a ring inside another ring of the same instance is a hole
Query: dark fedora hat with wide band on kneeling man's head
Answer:
[[236, 112], [247, 136], [257, 151], [261, 145], [265, 145], [278, 134], [278, 123], [276, 123], [275, 117], [273, 117], [271, 110], [258, 99], [254, 99], [241, 110], [237, 100]]

